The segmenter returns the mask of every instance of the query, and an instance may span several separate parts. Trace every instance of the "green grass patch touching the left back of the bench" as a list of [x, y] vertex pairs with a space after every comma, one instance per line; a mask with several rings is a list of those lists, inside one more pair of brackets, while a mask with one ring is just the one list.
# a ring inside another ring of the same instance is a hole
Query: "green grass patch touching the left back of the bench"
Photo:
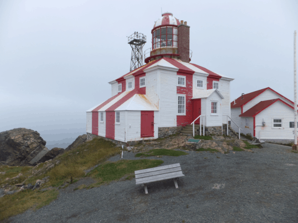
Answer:
[[133, 174], [136, 170], [157, 167], [162, 163], [161, 160], [120, 160], [99, 165], [87, 175], [98, 180], [96, 185], [101, 185], [119, 180], [128, 174]]

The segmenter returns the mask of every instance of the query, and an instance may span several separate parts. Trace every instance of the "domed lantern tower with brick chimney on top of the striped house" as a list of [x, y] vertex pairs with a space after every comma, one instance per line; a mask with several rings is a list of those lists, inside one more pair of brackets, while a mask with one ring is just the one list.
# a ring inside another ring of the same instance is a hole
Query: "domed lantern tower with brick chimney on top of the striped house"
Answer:
[[162, 57], [189, 62], [189, 28], [187, 22], [180, 22], [171, 12], [163, 13], [151, 30], [152, 46], [145, 51], [145, 62]]

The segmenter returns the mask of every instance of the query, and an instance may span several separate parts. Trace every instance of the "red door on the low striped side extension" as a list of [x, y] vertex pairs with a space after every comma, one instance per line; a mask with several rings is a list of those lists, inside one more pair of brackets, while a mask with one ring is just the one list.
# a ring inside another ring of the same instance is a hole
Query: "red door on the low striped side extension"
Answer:
[[141, 137], [154, 136], [154, 111], [141, 111]]

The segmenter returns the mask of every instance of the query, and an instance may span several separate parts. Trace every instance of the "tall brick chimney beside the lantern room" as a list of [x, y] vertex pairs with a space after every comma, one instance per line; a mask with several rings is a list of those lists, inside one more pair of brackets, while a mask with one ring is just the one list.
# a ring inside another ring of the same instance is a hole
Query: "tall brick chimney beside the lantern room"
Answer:
[[179, 59], [183, 62], [189, 63], [189, 28], [187, 22], [178, 26], [178, 54], [180, 54]]

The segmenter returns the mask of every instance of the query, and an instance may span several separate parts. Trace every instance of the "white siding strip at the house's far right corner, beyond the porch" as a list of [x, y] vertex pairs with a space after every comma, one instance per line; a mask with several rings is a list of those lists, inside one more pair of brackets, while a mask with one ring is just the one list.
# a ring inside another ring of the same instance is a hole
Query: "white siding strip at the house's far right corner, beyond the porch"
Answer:
[[[222, 112], [223, 115], [230, 115], [230, 81], [220, 79], [219, 91], [223, 95]], [[226, 124], [226, 118], [223, 118], [223, 123]]]

